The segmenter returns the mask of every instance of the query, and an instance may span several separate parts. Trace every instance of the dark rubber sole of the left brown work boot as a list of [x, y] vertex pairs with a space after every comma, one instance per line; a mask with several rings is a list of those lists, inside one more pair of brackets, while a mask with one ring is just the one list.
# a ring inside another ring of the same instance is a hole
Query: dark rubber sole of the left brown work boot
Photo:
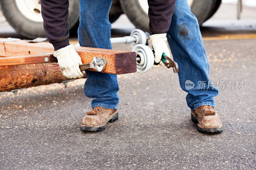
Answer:
[[102, 131], [106, 128], [108, 122], [115, 122], [117, 119], [118, 119], [118, 112], [116, 114], [113, 114], [112, 116], [109, 116], [105, 124], [100, 126], [85, 126], [81, 124], [81, 130], [86, 132]]

